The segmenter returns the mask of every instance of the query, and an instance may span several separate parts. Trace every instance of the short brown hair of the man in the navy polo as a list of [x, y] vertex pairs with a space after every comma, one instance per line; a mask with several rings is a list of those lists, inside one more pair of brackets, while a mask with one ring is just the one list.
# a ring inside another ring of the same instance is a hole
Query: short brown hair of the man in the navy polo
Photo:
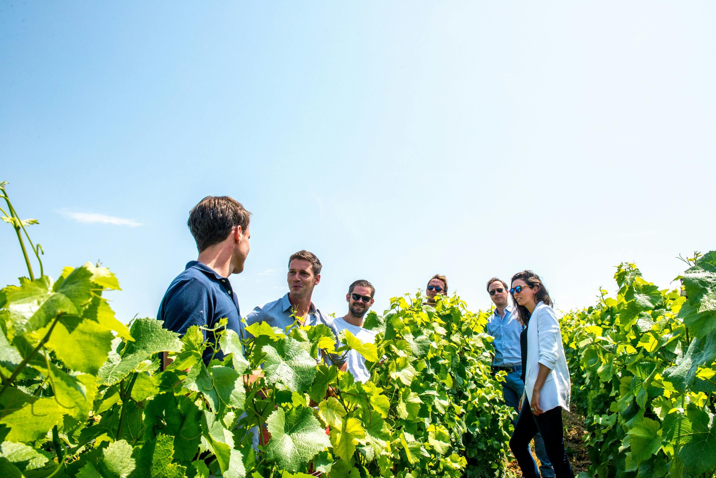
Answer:
[[222, 242], [236, 226], [246, 234], [251, 213], [243, 209], [236, 199], [228, 196], [206, 196], [189, 211], [189, 226], [196, 248], [202, 252], [213, 244]]

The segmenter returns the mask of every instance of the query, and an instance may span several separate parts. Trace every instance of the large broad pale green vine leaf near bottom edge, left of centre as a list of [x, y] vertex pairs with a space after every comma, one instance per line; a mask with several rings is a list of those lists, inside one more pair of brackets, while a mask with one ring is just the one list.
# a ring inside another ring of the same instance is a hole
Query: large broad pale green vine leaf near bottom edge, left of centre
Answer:
[[319, 451], [331, 446], [326, 431], [306, 406], [289, 411], [275, 410], [266, 421], [271, 440], [266, 445], [265, 457], [281, 469], [296, 472], [307, 464]]

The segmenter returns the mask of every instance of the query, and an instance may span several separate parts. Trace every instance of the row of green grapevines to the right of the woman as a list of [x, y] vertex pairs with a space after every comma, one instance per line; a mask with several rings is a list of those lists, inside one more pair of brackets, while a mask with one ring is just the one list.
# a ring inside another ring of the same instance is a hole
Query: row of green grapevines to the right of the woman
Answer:
[[574, 400], [599, 478], [716, 472], [716, 252], [690, 259], [676, 290], [620, 264], [616, 297], [562, 324]]

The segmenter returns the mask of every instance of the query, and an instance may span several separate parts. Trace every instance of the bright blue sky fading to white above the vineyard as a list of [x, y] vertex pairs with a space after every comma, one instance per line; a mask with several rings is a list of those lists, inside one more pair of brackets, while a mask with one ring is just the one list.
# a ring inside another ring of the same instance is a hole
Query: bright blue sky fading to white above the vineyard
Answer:
[[[380, 312], [440, 272], [476, 310], [486, 279], [525, 268], [563, 310], [591, 305], [621, 261], [667, 287], [677, 254], [716, 249], [715, 18], [712, 2], [2, 1], [0, 180], [39, 219], [47, 272], [100, 259], [125, 321], [154, 317], [195, 259], [185, 222], [208, 194], [253, 213], [243, 313], [287, 292], [299, 249], [341, 315], [354, 279]], [[9, 226], [0, 244], [16, 283]]]

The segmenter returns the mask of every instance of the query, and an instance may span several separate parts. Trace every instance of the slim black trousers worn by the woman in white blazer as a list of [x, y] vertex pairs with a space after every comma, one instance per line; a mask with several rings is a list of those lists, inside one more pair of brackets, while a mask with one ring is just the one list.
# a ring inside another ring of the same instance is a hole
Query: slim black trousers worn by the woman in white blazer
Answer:
[[547, 457], [552, 464], [556, 478], [574, 478], [564, 451], [562, 407], [556, 406], [541, 415], [533, 415], [525, 398], [522, 411], [517, 417], [515, 432], [510, 439], [510, 449], [515, 455], [524, 478], [539, 478], [537, 464], [530, 454], [530, 441], [537, 433], [542, 435]]

